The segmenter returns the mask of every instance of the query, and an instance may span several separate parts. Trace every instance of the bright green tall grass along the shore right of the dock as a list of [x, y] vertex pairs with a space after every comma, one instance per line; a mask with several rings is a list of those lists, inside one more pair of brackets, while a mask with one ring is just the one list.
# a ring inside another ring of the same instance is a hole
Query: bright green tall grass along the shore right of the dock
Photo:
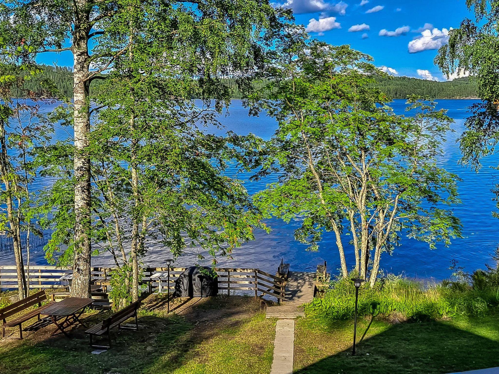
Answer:
[[[483, 278], [481, 279], [483, 281]], [[323, 299], [305, 306], [310, 317], [348, 319], [355, 308], [355, 287], [349, 279], [332, 282]], [[441, 319], [458, 315], [481, 316], [498, 310], [499, 285], [482, 282], [443, 282], [424, 285], [400, 277], [379, 280], [373, 288], [359, 290], [359, 315], [384, 315], [403, 319]]]

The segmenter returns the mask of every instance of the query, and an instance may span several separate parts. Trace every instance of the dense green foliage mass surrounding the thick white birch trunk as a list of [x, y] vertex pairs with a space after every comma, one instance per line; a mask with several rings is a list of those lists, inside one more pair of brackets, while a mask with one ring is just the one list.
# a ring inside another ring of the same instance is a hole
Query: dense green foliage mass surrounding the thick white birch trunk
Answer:
[[[85, 4], [83, 10], [63, 1], [9, 0], [0, 7], [0, 48], [16, 63], [33, 63], [38, 53], [69, 50], [64, 45], [76, 39], [73, 30], [95, 38], [89, 43], [92, 71], [80, 72], [92, 83], [95, 103], [85, 149], [92, 216], [84, 230], [102, 244], [94, 254], [110, 251], [119, 267], [128, 264], [128, 253], [143, 255], [151, 239], [174, 256], [192, 246], [212, 257], [251, 240], [261, 215], [243, 184], [225, 171], [233, 160], [247, 169], [241, 147], [251, 148], [257, 139], [207, 135], [202, 127], [220, 125], [216, 117], [231, 98], [226, 77], [242, 92], [261, 79], [273, 53], [269, 46], [288, 32], [290, 10], [267, 0]], [[57, 91], [51, 95], [72, 95], [69, 69], [39, 70], [17, 96], [48, 95], [43, 87], [49, 81]], [[192, 97], [202, 98], [204, 107]], [[74, 104], [67, 104], [46, 122], [71, 126]], [[75, 201], [72, 191], [78, 182], [72, 164], [81, 158], [72, 141], [45, 146], [36, 159], [40, 173], [56, 180], [52, 190], [39, 194], [38, 216], [54, 230], [46, 257], [61, 265], [71, 262], [80, 245], [73, 240], [79, 218], [74, 206], [82, 203], [90, 211], [90, 201]]]

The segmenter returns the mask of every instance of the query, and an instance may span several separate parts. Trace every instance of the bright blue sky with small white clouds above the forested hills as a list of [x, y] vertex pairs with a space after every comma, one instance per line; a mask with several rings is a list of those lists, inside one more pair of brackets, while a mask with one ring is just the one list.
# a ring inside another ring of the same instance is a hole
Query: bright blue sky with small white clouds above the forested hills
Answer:
[[[435, 48], [447, 41], [447, 30], [459, 27], [465, 17], [473, 18], [465, 0], [281, 0], [280, 4], [293, 8], [296, 23], [304, 24], [313, 37], [350, 44], [393, 75], [433, 80], [446, 79], [433, 64]], [[71, 52], [44, 53], [38, 60], [71, 67], [73, 63]]]

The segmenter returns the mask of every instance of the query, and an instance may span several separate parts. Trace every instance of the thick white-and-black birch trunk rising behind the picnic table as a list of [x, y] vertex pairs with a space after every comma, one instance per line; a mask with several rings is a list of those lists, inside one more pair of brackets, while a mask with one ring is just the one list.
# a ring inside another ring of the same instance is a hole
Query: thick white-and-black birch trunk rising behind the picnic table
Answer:
[[73, 91], [74, 91], [74, 267], [71, 296], [90, 297], [91, 256], [91, 186], [88, 134], [90, 108], [88, 98], [88, 33], [91, 4], [75, 1], [73, 30]]

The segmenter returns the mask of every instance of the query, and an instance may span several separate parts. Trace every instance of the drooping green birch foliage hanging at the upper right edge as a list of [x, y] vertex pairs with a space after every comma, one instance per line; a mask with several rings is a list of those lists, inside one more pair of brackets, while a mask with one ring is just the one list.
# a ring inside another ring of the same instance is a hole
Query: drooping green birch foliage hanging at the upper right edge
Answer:
[[465, 18], [459, 28], [451, 30], [449, 44], [435, 58], [445, 74], [466, 71], [476, 82], [482, 102], [470, 108], [460, 145], [461, 162], [477, 170], [483, 157], [495, 154], [499, 142], [498, 5], [497, 0], [468, 0], [476, 20]]

